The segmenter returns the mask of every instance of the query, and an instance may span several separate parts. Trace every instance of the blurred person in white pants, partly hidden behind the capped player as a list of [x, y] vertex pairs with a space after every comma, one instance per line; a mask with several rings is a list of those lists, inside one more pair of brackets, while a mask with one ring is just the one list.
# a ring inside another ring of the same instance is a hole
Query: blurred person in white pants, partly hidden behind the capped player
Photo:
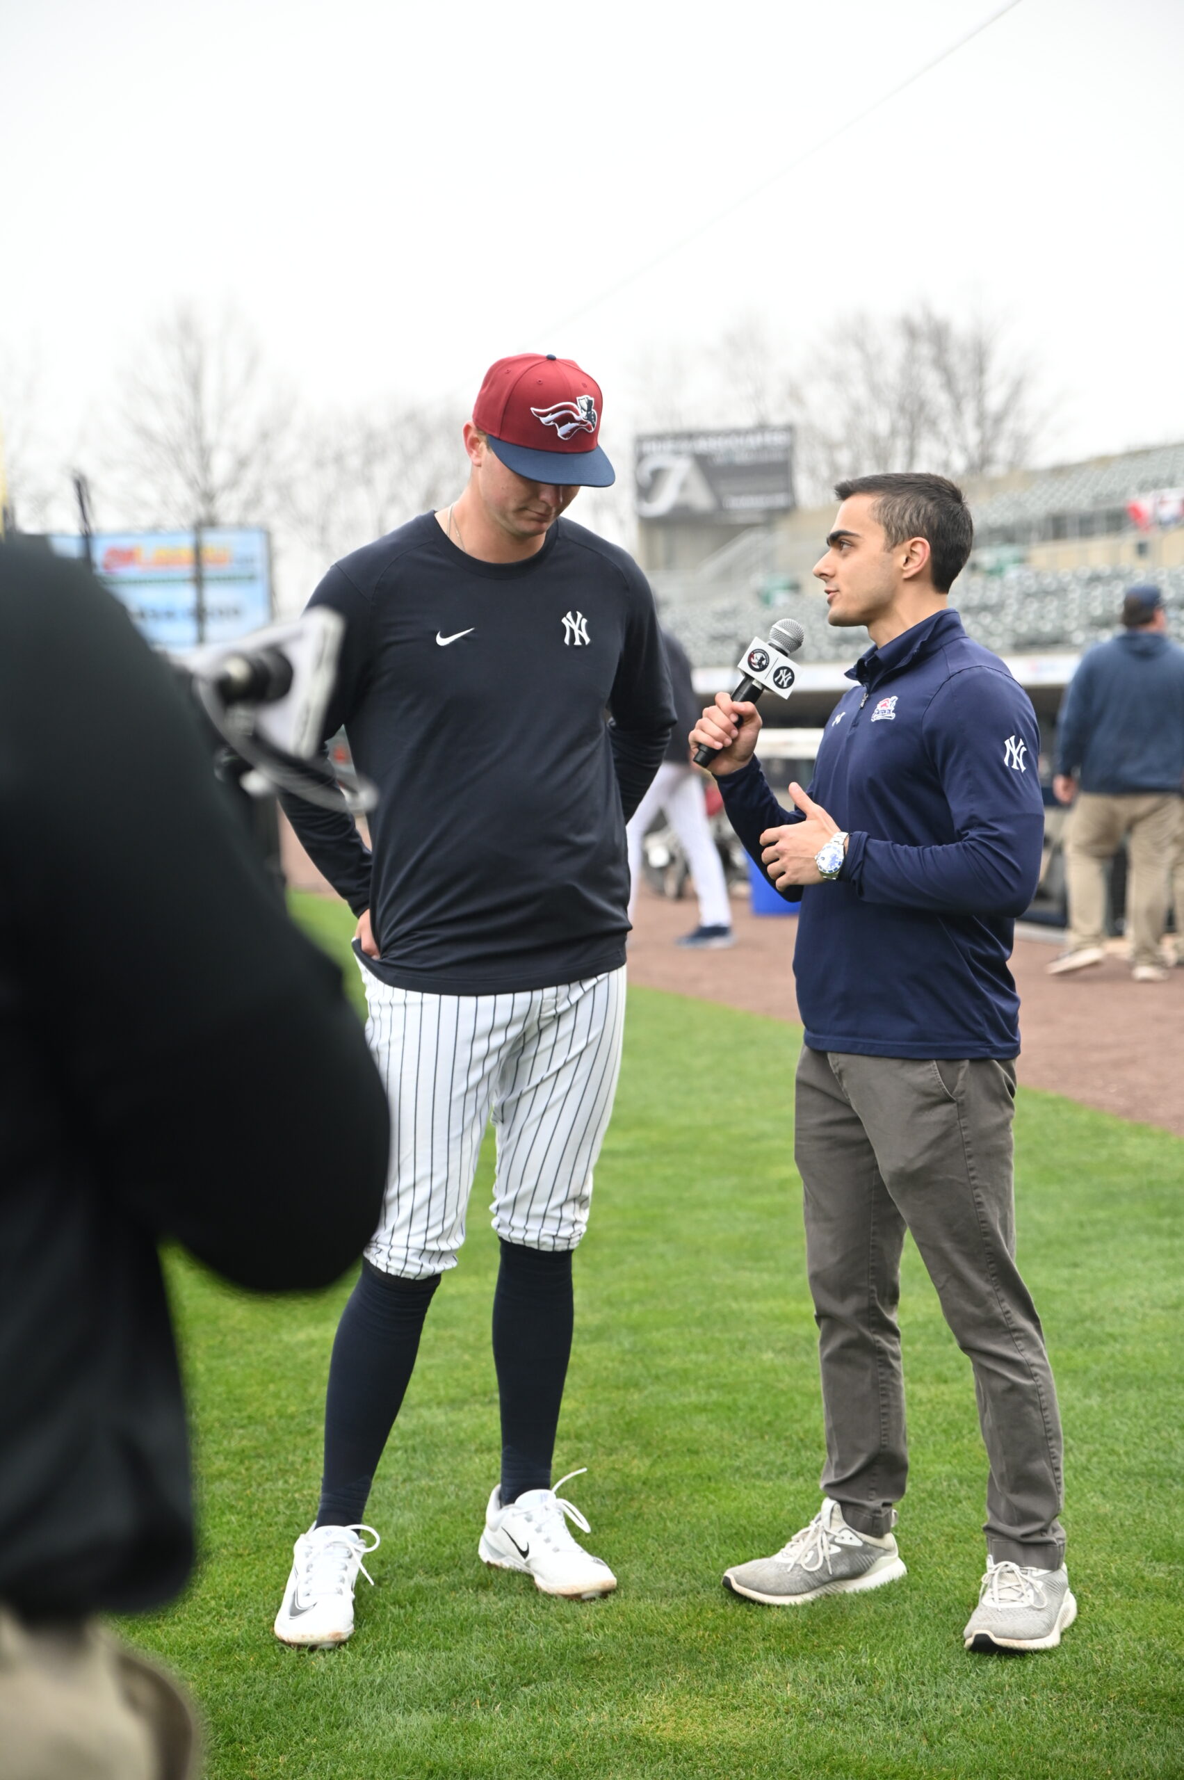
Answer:
[[703, 778], [691, 765], [691, 748], [687, 744], [687, 735], [698, 723], [700, 705], [691, 680], [691, 662], [682, 643], [669, 630], [662, 630], [662, 648], [666, 651], [666, 666], [669, 668], [669, 689], [675, 700], [675, 728], [666, 746], [666, 758], [628, 822], [628, 915], [632, 920], [641, 885], [646, 829], [657, 812], [662, 810], [685, 854], [700, 904], [698, 927], [693, 933], [684, 933], [675, 943], [693, 951], [719, 951], [721, 947], [735, 945], [735, 934], [732, 931], [732, 908], [728, 904], [723, 862], [712, 838], [710, 822], [707, 821]]

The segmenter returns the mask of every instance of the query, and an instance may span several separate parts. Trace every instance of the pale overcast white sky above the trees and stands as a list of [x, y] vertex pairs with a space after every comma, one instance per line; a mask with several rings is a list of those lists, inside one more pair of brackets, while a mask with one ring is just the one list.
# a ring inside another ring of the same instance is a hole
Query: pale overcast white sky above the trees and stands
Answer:
[[577, 358], [612, 454], [671, 344], [928, 299], [1040, 361], [1045, 456], [1180, 438], [1180, 0], [1020, 0], [630, 276], [995, 11], [0, 0], [0, 372], [68, 461], [155, 317], [231, 303], [313, 404]]

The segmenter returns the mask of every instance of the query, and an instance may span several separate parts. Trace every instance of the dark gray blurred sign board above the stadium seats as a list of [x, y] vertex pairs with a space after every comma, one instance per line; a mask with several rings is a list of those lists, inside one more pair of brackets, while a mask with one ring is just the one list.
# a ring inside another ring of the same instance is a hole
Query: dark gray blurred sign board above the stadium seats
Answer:
[[650, 433], [636, 447], [637, 518], [760, 523], [794, 502], [794, 429]]

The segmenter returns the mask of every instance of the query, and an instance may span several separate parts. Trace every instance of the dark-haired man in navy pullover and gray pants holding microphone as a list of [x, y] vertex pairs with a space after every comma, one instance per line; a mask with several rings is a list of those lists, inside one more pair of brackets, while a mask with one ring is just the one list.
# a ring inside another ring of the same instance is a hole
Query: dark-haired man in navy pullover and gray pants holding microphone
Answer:
[[1008, 970], [1040, 876], [1033, 707], [963, 630], [947, 593], [974, 538], [938, 475], [840, 482], [814, 573], [831, 625], [865, 625], [808, 792], [776, 801], [757, 707], [716, 698], [691, 733], [769, 883], [801, 897], [805, 1024], [796, 1161], [819, 1324], [823, 1508], [725, 1584], [798, 1606], [904, 1575], [892, 1527], [908, 1447], [899, 1262], [910, 1230], [974, 1367], [990, 1461], [986, 1575], [967, 1648], [1050, 1648], [1075, 1616], [1065, 1570], [1061, 1426], [1015, 1264], [1011, 1114], [1020, 1048]]

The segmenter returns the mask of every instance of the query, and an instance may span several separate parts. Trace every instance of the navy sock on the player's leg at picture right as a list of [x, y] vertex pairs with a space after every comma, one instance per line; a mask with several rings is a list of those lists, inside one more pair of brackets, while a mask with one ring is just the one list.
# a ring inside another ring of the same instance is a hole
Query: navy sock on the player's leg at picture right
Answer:
[[493, 1363], [502, 1404], [502, 1506], [550, 1488], [572, 1353], [572, 1251], [502, 1241]]

